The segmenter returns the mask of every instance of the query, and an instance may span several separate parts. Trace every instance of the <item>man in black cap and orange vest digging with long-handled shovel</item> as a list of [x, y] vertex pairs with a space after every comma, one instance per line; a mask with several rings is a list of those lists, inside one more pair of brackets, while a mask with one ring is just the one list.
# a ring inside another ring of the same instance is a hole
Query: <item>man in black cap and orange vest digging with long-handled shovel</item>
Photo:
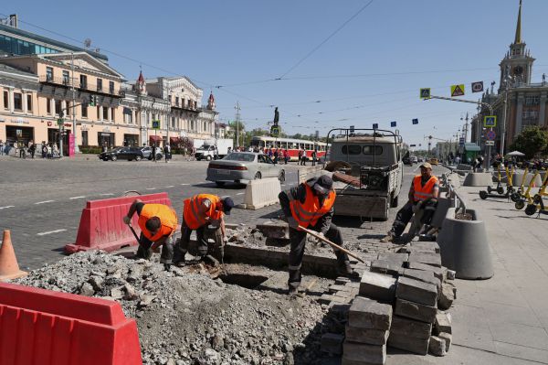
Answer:
[[[300, 265], [306, 243], [306, 232], [299, 226], [318, 231], [331, 242], [342, 246], [342, 232], [332, 223], [335, 191], [333, 180], [323, 175], [313, 177], [296, 188], [279, 193], [279, 203], [290, 225], [290, 278], [289, 294], [296, 295], [300, 285]], [[337, 256], [337, 272], [340, 275], [357, 277], [350, 266], [348, 255], [335, 250]]]

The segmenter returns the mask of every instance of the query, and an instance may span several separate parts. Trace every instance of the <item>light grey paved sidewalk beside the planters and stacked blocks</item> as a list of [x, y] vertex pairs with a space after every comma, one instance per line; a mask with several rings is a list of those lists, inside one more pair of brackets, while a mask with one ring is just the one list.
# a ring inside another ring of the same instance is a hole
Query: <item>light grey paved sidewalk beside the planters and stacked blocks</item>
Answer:
[[453, 345], [445, 358], [390, 355], [386, 364], [548, 364], [548, 216], [514, 209], [506, 199], [458, 191], [486, 223], [495, 274], [457, 280]]

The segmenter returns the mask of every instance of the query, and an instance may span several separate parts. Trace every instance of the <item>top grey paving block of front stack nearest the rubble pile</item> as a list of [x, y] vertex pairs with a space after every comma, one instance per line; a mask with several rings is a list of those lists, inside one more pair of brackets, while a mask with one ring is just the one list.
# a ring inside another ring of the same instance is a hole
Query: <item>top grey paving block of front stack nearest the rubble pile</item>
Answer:
[[387, 330], [392, 321], [392, 306], [356, 296], [348, 313], [352, 327]]

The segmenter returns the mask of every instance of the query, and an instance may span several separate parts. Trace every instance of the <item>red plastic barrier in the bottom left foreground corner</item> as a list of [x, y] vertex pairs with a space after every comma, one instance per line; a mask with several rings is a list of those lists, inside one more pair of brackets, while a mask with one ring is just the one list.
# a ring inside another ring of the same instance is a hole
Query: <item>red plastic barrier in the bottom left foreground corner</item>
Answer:
[[117, 302], [0, 283], [0, 364], [142, 365]]

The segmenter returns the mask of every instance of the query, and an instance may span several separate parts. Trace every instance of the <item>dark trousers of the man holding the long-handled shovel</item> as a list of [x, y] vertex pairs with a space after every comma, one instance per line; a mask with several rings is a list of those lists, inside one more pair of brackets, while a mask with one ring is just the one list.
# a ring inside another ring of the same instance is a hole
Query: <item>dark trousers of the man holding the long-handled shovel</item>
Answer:
[[[319, 227], [309, 226], [308, 229], [311, 231], [318, 231]], [[339, 246], [342, 246], [343, 244], [341, 230], [339, 230], [339, 228], [334, 224], [332, 224], [329, 227], [329, 231], [325, 233], [325, 238], [333, 243], [338, 244]], [[302, 264], [302, 256], [304, 254], [305, 243], [306, 232], [297, 231], [290, 228], [290, 279], [288, 281], [290, 288], [297, 289], [300, 285], [300, 279], [302, 276], [300, 273], [300, 266]], [[348, 255], [339, 250], [334, 251], [335, 255], [337, 256], [337, 271], [343, 273], [346, 270], [350, 270], [350, 261], [348, 260]]]

